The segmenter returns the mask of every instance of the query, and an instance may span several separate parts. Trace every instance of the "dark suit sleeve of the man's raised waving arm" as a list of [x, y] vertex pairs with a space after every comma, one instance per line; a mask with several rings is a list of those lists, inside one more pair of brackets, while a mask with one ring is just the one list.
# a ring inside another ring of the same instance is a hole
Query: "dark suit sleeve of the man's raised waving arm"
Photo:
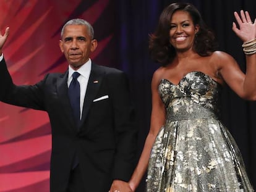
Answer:
[[43, 81], [35, 85], [14, 85], [4, 59], [0, 61], [0, 101], [20, 107], [45, 110]]

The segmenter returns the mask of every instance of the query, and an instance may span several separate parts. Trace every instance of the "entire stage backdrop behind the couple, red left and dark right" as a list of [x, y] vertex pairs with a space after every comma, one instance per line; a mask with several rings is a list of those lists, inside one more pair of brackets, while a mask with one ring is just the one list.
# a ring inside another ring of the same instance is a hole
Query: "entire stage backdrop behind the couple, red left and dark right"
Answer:
[[[151, 76], [159, 67], [148, 57], [148, 34], [155, 30], [160, 12], [171, 2], [175, 1], [0, 0], [0, 29], [11, 29], [3, 51], [14, 83], [33, 84], [46, 73], [64, 72], [67, 63], [58, 46], [61, 27], [75, 17], [88, 20], [100, 42], [93, 61], [122, 69], [129, 76], [139, 128], [139, 158], [150, 126]], [[245, 70], [242, 42], [231, 29], [233, 12], [249, 10], [255, 18], [256, 1], [188, 2], [198, 7], [215, 30], [220, 49]], [[243, 101], [228, 87], [223, 93], [224, 123], [236, 139], [256, 186], [256, 102]], [[48, 115], [0, 103], [0, 191], [48, 192], [50, 153]], [[143, 181], [136, 192], [144, 191]]]

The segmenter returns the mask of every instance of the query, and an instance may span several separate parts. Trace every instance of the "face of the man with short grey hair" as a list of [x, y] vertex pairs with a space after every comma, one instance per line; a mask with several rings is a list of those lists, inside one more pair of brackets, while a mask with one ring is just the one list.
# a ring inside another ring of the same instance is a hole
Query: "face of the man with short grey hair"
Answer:
[[90, 54], [95, 51], [97, 41], [92, 40], [85, 25], [67, 25], [64, 28], [59, 47], [67, 62], [77, 70], [88, 61]]

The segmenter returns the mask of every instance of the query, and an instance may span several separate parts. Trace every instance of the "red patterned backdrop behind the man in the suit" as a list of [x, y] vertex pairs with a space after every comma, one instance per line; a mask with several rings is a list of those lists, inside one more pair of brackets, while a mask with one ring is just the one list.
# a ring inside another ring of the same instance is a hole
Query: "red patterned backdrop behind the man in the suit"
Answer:
[[[95, 28], [99, 46], [93, 61], [118, 67], [113, 56], [113, 7], [110, 0], [0, 1], [1, 32], [6, 27], [11, 31], [3, 53], [14, 83], [34, 84], [46, 73], [67, 69], [59, 49], [60, 31], [74, 18], [85, 19]], [[46, 112], [0, 102], [0, 191], [49, 191], [50, 154]]]

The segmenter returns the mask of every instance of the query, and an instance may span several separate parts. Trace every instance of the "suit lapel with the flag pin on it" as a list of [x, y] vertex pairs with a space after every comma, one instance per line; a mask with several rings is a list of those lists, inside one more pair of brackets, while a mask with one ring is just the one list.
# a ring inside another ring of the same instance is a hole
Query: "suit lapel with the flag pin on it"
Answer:
[[82, 111], [82, 122], [80, 125], [83, 125], [87, 117], [90, 106], [93, 102], [93, 99], [98, 93], [98, 90], [103, 79], [103, 71], [98, 65], [92, 64], [92, 71], [88, 80], [87, 91], [85, 93], [85, 100], [83, 102], [83, 111]]

